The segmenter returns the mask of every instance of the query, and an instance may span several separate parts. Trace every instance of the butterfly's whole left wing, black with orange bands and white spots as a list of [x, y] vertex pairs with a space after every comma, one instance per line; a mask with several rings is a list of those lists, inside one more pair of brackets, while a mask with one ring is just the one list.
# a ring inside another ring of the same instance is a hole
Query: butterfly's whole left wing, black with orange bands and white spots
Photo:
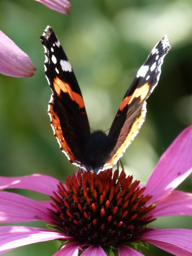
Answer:
[[52, 90], [48, 113], [55, 137], [68, 160], [81, 167], [90, 126], [79, 84], [58, 38], [47, 26], [41, 36], [45, 75]]

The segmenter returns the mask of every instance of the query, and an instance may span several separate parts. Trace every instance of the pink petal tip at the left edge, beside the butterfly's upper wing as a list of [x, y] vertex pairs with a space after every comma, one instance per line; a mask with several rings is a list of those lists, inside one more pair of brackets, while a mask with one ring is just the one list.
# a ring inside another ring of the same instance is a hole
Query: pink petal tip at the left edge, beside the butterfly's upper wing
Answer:
[[36, 70], [29, 56], [0, 31], [0, 73], [6, 76], [33, 76]]

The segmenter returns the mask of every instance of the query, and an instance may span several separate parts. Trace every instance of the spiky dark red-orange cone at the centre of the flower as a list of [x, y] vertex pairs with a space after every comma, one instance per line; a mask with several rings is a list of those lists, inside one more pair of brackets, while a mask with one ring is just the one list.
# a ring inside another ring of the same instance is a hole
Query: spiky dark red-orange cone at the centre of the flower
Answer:
[[84, 172], [83, 179], [80, 172], [68, 176], [66, 187], [60, 183], [51, 197], [54, 227], [78, 241], [102, 247], [135, 241], [154, 221], [148, 214], [154, 206], [146, 206], [151, 196], [142, 195], [145, 188], [139, 188], [139, 183], [124, 172], [118, 180], [118, 172], [112, 174], [112, 169], [99, 175]]

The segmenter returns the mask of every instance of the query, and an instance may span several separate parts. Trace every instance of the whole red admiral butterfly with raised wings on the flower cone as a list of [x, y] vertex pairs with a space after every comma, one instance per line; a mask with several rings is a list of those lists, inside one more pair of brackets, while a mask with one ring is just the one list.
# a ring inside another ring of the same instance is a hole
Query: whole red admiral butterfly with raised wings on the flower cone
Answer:
[[145, 120], [145, 100], [157, 85], [163, 58], [170, 49], [165, 35], [137, 72], [120, 104], [108, 135], [91, 134], [79, 84], [53, 30], [41, 36], [45, 75], [52, 90], [48, 113], [54, 135], [68, 160], [87, 172], [111, 168], [125, 153]]

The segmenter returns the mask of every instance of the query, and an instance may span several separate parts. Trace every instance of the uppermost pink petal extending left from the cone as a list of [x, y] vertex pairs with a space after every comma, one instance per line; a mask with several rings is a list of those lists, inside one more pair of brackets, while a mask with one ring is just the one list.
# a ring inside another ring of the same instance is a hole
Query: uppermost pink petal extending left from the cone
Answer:
[[52, 195], [52, 191], [57, 190], [59, 181], [53, 177], [41, 174], [33, 174], [23, 177], [2, 177], [0, 176], [1, 189], [30, 189]]

